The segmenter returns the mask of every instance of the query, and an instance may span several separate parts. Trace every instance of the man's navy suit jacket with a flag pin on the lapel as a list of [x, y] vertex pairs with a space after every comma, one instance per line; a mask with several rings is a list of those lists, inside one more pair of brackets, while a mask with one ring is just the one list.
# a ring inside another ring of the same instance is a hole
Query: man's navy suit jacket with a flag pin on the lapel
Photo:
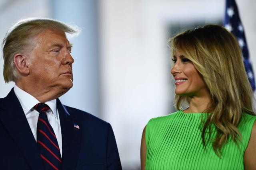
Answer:
[[[62, 133], [62, 170], [122, 170], [109, 123], [64, 106], [58, 99], [57, 109]], [[0, 169], [43, 170], [36, 141], [13, 88], [0, 99]]]

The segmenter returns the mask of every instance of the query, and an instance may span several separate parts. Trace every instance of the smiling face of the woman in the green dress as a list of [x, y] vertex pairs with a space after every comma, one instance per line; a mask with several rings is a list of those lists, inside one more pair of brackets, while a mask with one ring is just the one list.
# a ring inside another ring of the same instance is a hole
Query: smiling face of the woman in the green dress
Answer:
[[173, 59], [174, 66], [171, 73], [175, 79], [175, 94], [179, 96], [204, 97], [209, 92], [202, 75], [196, 70], [192, 61], [176, 50]]

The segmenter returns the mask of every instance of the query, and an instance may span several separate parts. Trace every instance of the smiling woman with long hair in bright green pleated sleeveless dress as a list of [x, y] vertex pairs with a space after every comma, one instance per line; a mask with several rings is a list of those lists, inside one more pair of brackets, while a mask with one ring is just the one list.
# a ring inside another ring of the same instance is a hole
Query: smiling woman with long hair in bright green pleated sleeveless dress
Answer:
[[142, 170], [256, 169], [256, 116], [241, 49], [224, 27], [170, 39], [177, 112], [151, 119]]

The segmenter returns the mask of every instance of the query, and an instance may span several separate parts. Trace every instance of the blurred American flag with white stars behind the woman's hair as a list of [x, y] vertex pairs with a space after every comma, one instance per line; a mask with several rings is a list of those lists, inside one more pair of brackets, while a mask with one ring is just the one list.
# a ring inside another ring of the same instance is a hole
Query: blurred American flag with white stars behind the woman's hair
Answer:
[[248, 47], [244, 35], [244, 27], [240, 20], [235, 0], [226, 0], [225, 18], [223, 25], [226, 27], [226, 29], [231, 31], [238, 40], [238, 43], [242, 49], [244, 67], [247, 73], [247, 77], [252, 86], [252, 90], [255, 91], [254, 73], [249, 58]]

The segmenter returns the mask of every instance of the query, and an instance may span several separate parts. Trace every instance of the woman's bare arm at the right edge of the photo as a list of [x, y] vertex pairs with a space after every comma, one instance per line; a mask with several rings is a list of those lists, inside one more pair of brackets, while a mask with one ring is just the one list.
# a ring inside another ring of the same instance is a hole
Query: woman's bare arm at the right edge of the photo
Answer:
[[248, 146], [244, 152], [244, 169], [256, 170], [256, 121], [252, 127], [252, 132]]

